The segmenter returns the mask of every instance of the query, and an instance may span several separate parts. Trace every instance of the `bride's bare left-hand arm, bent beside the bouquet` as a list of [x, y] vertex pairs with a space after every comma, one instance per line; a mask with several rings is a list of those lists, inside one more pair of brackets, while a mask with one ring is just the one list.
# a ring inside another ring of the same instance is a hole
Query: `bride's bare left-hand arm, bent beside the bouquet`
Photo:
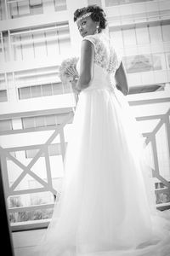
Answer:
[[82, 41], [80, 76], [77, 79], [76, 90], [87, 88], [94, 77], [94, 45], [88, 40]]

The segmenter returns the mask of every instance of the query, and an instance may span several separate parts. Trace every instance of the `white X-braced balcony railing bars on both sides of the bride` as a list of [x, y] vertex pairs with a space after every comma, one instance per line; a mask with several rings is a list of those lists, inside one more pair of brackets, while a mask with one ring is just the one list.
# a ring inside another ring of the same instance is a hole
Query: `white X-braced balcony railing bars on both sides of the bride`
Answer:
[[[129, 104], [132, 106], [137, 106], [137, 105], [144, 105], [144, 104], [154, 104], [154, 103], [162, 103], [162, 102], [170, 102], [170, 97], [167, 96], [167, 98], [160, 98], [160, 99], [148, 99], [148, 100], [143, 100], [143, 101], [129, 101]], [[52, 195], [54, 195], [55, 200], [59, 199], [60, 191], [56, 188], [54, 188], [53, 185], [53, 178], [52, 178], [52, 172], [51, 172], [51, 167], [50, 167], [50, 155], [48, 152], [48, 146], [51, 145], [56, 137], [59, 136], [59, 141], [60, 141], [60, 148], [61, 152], [60, 154], [62, 155], [62, 160], [64, 161], [65, 158], [65, 125], [68, 123], [71, 123], [71, 119], [73, 117], [73, 112], [72, 109], [68, 110], [68, 108], [65, 110], [65, 120], [63, 121], [62, 124], [60, 125], [51, 125], [51, 126], [46, 126], [46, 127], [37, 127], [37, 128], [26, 128], [26, 129], [20, 129], [20, 130], [14, 130], [14, 131], [2, 131], [0, 132], [0, 136], [7, 136], [7, 135], [19, 135], [19, 134], [25, 134], [29, 135], [32, 132], [48, 132], [50, 131], [51, 134], [47, 137], [45, 143], [42, 144], [29, 144], [29, 145], [24, 145], [24, 146], [17, 146], [17, 147], [0, 147], [0, 154], [1, 154], [1, 161], [2, 161], [2, 166], [3, 166], [3, 180], [4, 180], [4, 188], [5, 188], [5, 195], [6, 195], [6, 200], [8, 201], [8, 198], [11, 196], [17, 196], [17, 195], [31, 195], [35, 193], [40, 193], [40, 192], [50, 192]], [[38, 113], [35, 113], [38, 114]], [[19, 118], [19, 117], [17, 117]], [[158, 151], [156, 147], [156, 135], [157, 133], [161, 130], [162, 125], [165, 125], [166, 127], [166, 137], [167, 137], [167, 154], [170, 154], [170, 124], [169, 124], [169, 119], [170, 119], [170, 109], [166, 113], [161, 113], [161, 114], [156, 114], [156, 115], [150, 115], [150, 116], [140, 116], [137, 117], [137, 120], [144, 121], [144, 120], [154, 120], [154, 119], [159, 119], [159, 122], [155, 126], [155, 128], [150, 131], [150, 132], [144, 132], [143, 136], [145, 138], [145, 143], [146, 145], [151, 144], [152, 148], [152, 155], [153, 155], [153, 160], [154, 160], [154, 168], [153, 168], [153, 177], [156, 178], [156, 182], [161, 183], [161, 188], [156, 188], [156, 195], [159, 196], [160, 193], [163, 195], [163, 193], [170, 195], [170, 183], [169, 179], [164, 177], [164, 175], [160, 172], [160, 163], [159, 163], [159, 158], [158, 158]], [[163, 145], [164, 147], [164, 145]], [[28, 165], [25, 165], [20, 161], [20, 159], [17, 159], [16, 157], [13, 156], [14, 152], [22, 152], [30, 149], [38, 149], [37, 154], [35, 154], [31, 161], [28, 163]], [[40, 159], [42, 156], [45, 159], [44, 161], [44, 166], [47, 171], [47, 180], [44, 180], [41, 176], [37, 175], [36, 172], [32, 171], [32, 168], [37, 164], [37, 161]], [[14, 183], [10, 184], [9, 183], [9, 178], [8, 178], [8, 160], [11, 160], [15, 166], [18, 166], [22, 172], [20, 175], [15, 179]], [[57, 169], [57, 166], [56, 166]], [[30, 175], [32, 179], [37, 181], [37, 183], [41, 184], [41, 187], [38, 188], [25, 188], [25, 189], [17, 189], [17, 186], [20, 185], [20, 183], [24, 180], [26, 175]], [[62, 177], [58, 177], [60, 180], [62, 180]], [[14, 206], [14, 207], [8, 207], [8, 213], [9, 214], [18, 214], [17, 212], [29, 212], [29, 211], [45, 211], [49, 208], [54, 207], [54, 201], [49, 201], [48, 203], [40, 204], [40, 205], [29, 205], [29, 206]], [[162, 210], [164, 208], [170, 207], [170, 202], [169, 201], [161, 201], [161, 203], [157, 204], [157, 208]], [[38, 221], [27, 221], [23, 223], [13, 223], [12, 229], [13, 230], [23, 230], [23, 229], [29, 229], [29, 228], [35, 228], [35, 227], [42, 227], [44, 225], [47, 225], [49, 221], [49, 218], [46, 220], [40, 219]]]

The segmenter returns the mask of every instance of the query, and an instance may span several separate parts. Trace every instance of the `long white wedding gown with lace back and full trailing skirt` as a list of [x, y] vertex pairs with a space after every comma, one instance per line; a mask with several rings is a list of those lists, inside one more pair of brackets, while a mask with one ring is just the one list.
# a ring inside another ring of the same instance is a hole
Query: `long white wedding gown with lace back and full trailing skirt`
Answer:
[[156, 211], [142, 139], [114, 85], [120, 58], [105, 33], [84, 39], [94, 79], [79, 96], [62, 194], [36, 255], [170, 255], [170, 222]]

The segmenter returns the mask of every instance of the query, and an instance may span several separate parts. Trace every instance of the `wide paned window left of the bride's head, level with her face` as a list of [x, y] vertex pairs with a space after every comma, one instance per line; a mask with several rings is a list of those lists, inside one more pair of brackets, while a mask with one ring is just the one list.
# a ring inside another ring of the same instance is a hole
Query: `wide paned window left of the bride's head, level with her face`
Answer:
[[71, 38], [67, 23], [11, 31], [10, 37], [14, 61], [47, 57], [55, 59], [59, 55], [70, 53]]

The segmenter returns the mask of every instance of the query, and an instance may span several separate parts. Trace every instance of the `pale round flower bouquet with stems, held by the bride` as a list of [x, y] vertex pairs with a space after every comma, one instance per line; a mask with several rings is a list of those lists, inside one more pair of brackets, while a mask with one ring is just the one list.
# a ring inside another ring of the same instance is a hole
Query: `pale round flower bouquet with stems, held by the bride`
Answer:
[[[77, 57], [71, 57], [68, 59], [65, 59], [61, 62], [61, 65], [59, 67], [59, 79], [61, 79], [61, 82], [63, 84], [71, 83], [71, 81], [78, 77], [77, 72]], [[76, 104], [78, 101], [78, 93], [75, 88], [72, 87], [72, 90], [74, 92]]]

